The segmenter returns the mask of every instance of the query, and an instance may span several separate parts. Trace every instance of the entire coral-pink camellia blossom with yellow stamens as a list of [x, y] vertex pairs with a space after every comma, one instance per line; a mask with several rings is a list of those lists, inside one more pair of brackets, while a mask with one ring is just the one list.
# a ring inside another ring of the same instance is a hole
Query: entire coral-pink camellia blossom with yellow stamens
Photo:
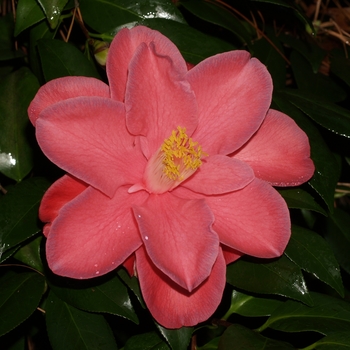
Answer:
[[61, 276], [87, 279], [124, 264], [164, 327], [207, 320], [226, 264], [280, 256], [286, 203], [272, 186], [310, 179], [305, 133], [269, 109], [272, 81], [246, 51], [192, 69], [143, 26], [122, 29], [109, 86], [65, 77], [29, 107], [38, 143], [67, 174], [46, 192], [46, 255]]

